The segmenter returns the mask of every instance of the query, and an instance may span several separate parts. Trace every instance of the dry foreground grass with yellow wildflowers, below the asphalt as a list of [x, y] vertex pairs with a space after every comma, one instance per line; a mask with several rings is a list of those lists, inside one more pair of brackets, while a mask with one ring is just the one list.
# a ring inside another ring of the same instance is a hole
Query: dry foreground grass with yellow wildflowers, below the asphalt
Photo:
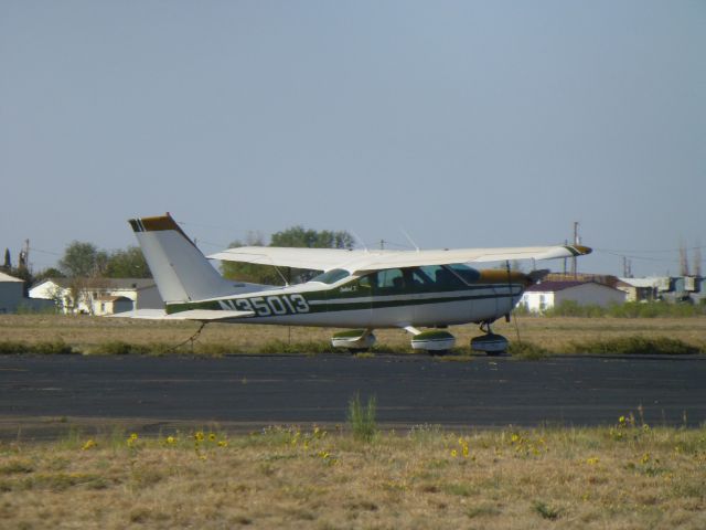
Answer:
[[74, 431], [0, 445], [0, 517], [25, 529], [700, 529], [705, 465], [706, 428], [632, 417], [595, 428], [419, 426], [372, 441], [320, 426]]

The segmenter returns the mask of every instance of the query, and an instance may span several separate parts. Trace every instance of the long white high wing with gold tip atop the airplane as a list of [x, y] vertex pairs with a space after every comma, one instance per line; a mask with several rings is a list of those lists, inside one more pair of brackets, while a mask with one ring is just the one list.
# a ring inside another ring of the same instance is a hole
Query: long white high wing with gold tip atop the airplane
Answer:
[[362, 251], [342, 248], [286, 248], [276, 246], [242, 246], [228, 248], [208, 257], [231, 262], [275, 265], [279, 267], [330, 271], [345, 268], [351, 273], [383, 268], [447, 265], [450, 263], [483, 263], [506, 259], [554, 259], [590, 254], [580, 245], [515, 246], [506, 248], [452, 248], [440, 251]]

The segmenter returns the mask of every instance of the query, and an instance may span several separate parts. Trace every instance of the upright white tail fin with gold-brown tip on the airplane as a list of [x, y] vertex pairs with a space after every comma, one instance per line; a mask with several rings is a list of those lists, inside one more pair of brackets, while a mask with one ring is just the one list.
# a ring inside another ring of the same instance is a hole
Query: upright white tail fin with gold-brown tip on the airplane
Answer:
[[169, 213], [131, 219], [129, 223], [164, 303], [202, 300], [243, 290], [244, 284], [228, 282], [213, 268]]

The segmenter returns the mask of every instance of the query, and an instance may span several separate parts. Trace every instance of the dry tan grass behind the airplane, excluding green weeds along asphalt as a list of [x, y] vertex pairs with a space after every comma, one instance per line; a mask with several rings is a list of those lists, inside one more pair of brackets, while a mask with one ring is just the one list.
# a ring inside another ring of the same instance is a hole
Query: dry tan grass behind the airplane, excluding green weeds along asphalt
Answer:
[[[0, 342], [38, 343], [63, 341], [82, 352], [99, 351], [106, 342], [131, 344], [180, 344], [199, 325], [88, 316], [2, 315]], [[625, 337], [668, 337], [706, 350], [706, 317], [692, 318], [576, 318], [517, 317], [511, 324], [499, 321], [493, 328], [511, 342], [533, 342], [553, 352], [569, 351], [573, 343]], [[286, 326], [210, 324], [199, 338], [194, 351], [257, 352], [267, 343], [328, 343], [338, 329]], [[474, 325], [451, 328], [459, 346], [468, 346], [481, 335]], [[402, 330], [376, 330], [378, 344], [408, 352], [409, 336]], [[183, 350], [182, 350], [183, 351]]]

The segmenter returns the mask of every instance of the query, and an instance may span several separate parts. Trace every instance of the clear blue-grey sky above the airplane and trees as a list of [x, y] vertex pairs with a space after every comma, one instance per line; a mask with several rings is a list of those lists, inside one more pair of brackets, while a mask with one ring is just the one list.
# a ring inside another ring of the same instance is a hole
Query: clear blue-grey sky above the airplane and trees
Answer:
[[167, 211], [206, 254], [579, 222], [580, 271], [677, 274], [706, 245], [705, 51], [703, 0], [0, 0], [0, 247], [36, 272]]

